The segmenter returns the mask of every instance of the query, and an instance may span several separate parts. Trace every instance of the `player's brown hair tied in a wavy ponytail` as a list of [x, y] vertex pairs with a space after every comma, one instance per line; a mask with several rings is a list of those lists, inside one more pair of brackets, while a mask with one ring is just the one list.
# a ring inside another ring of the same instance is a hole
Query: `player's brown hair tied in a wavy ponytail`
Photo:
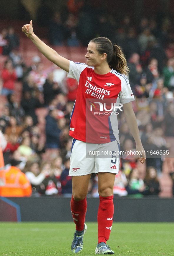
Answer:
[[116, 70], [120, 74], [128, 75], [129, 68], [122, 48], [116, 44], [112, 44], [107, 37], [97, 37], [90, 42], [96, 44], [99, 54], [107, 54], [107, 63], [111, 69]]

